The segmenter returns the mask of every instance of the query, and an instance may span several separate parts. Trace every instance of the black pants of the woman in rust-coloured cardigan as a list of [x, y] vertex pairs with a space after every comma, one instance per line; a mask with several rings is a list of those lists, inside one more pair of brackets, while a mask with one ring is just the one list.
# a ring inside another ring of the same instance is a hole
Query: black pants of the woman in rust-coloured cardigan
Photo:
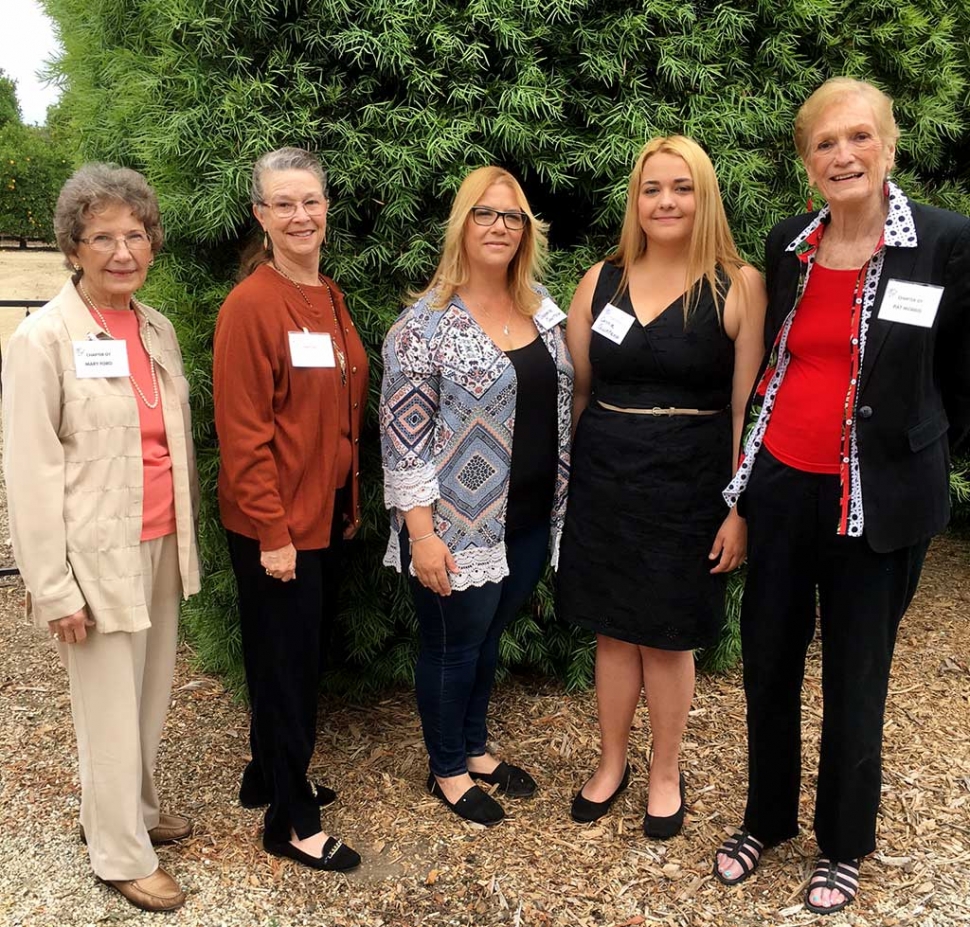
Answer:
[[[340, 509], [336, 509], [337, 512]], [[244, 774], [269, 801], [266, 835], [303, 839], [320, 830], [320, 808], [307, 782], [317, 732], [317, 700], [327, 631], [337, 611], [341, 519], [322, 550], [299, 550], [296, 579], [266, 575], [259, 541], [227, 531], [239, 587], [243, 663], [249, 689], [249, 743]]]

